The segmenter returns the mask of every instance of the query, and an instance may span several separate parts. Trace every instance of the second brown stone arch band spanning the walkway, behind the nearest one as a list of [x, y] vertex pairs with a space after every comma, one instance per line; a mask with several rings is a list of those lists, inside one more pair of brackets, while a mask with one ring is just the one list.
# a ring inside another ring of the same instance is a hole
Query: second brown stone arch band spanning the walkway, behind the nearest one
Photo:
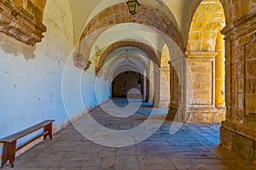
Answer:
[[122, 47], [134, 47], [134, 48], [142, 49], [148, 55], [149, 59], [154, 61], [154, 63], [156, 65], [159, 65], [159, 57], [158, 56], [160, 56], [160, 54], [158, 51], [156, 51], [152, 47], [149, 47], [147, 44], [144, 44], [143, 42], [137, 42], [135, 40], [126, 40], [126, 41], [122, 41], [122, 42], [115, 42], [103, 51], [102, 56], [99, 59], [99, 64], [96, 67], [96, 75], [97, 75], [98, 71], [100, 71], [102, 69], [105, 59], [107, 59], [107, 57], [108, 57], [108, 54], [113, 52], [113, 50], [115, 50], [117, 48], [122, 48]]

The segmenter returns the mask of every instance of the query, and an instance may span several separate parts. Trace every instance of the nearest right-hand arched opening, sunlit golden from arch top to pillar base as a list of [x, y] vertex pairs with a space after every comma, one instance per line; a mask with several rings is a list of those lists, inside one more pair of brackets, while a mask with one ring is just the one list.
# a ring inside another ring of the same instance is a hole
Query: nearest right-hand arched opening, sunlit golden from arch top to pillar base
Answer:
[[222, 3], [203, 0], [195, 11], [189, 30], [187, 61], [192, 77], [188, 122], [222, 122], [224, 104], [224, 37]]

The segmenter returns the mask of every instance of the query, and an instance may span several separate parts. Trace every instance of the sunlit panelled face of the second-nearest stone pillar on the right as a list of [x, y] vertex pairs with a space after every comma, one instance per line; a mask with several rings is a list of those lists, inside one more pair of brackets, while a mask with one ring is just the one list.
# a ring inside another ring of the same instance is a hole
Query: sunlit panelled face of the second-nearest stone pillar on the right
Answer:
[[221, 122], [224, 116], [215, 108], [216, 52], [188, 52], [186, 122]]

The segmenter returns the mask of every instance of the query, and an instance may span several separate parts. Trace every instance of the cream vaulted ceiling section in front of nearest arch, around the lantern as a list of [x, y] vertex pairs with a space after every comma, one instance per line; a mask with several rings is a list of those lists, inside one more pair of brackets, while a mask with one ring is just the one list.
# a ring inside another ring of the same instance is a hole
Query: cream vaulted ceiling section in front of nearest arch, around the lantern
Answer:
[[[79, 38], [85, 26], [96, 14], [100, 14], [108, 7], [125, 3], [125, 0], [69, 0], [73, 13], [74, 43]], [[178, 29], [182, 32], [183, 42], [188, 37], [189, 25], [195, 9], [201, 0], [139, 0], [141, 4], [163, 11], [171, 20], [177, 22]], [[146, 14], [145, 14], [146, 15]], [[146, 16], [144, 16], [146, 17]]]

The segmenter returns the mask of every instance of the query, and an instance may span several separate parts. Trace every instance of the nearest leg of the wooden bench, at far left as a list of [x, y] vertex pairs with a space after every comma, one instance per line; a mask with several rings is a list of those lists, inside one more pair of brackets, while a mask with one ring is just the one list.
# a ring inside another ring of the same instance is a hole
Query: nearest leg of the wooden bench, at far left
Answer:
[[3, 168], [4, 164], [9, 161], [11, 167], [15, 167], [15, 152], [16, 152], [16, 140], [12, 143], [4, 143], [3, 144], [3, 156], [2, 156], [2, 165]]

